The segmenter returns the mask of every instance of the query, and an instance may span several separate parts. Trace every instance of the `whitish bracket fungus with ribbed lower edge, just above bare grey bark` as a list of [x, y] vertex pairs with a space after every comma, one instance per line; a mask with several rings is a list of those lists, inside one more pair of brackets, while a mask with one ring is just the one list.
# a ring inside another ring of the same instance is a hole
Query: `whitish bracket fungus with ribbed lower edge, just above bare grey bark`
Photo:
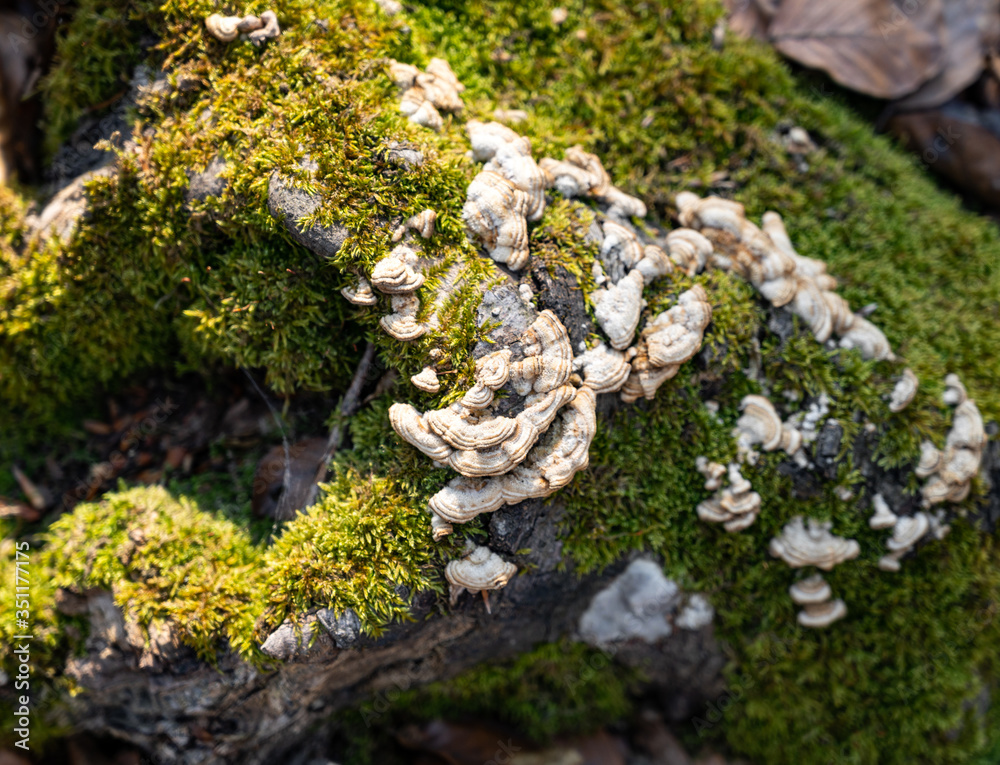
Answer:
[[498, 263], [518, 271], [528, 264], [530, 197], [499, 173], [484, 170], [472, 179], [462, 220]]

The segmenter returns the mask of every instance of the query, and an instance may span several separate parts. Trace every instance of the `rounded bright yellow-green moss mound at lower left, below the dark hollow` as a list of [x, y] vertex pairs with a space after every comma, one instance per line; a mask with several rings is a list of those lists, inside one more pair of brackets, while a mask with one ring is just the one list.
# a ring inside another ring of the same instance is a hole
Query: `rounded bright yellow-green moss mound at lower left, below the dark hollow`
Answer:
[[164, 489], [124, 491], [63, 516], [42, 565], [58, 587], [111, 590], [126, 619], [166, 622], [202, 658], [214, 658], [222, 640], [244, 654], [256, 649], [258, 549]]

